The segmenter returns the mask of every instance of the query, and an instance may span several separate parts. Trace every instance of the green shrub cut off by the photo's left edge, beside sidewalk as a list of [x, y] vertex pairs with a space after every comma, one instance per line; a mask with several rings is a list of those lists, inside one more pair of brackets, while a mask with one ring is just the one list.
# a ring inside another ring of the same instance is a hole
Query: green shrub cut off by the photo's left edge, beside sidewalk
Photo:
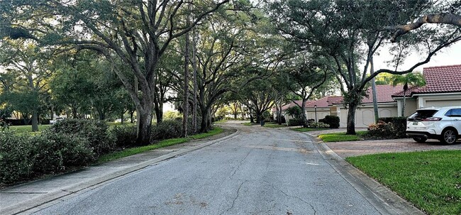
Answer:
[[11, 131], [0, 131], [0, 183], [11, 184], [28, 177], [33, 160], [30, 142], [26, 136]]

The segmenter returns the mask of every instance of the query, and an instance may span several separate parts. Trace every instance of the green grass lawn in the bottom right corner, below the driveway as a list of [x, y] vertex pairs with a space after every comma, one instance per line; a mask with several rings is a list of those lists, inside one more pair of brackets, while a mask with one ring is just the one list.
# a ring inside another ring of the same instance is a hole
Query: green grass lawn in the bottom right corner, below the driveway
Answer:
[[461, 214], [461, 150], [346, 158], [427, 214]]

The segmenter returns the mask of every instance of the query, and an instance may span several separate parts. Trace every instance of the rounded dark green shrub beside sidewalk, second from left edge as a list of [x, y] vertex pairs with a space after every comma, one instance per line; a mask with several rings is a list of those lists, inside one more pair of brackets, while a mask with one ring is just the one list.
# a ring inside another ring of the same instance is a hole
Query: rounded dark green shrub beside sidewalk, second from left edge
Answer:
[[77, 135], [45, 131], [30, 136], [29, 141], [35, 173], [61, 172], [66, 167], [85, 166], [94, 160], [89, 141]]

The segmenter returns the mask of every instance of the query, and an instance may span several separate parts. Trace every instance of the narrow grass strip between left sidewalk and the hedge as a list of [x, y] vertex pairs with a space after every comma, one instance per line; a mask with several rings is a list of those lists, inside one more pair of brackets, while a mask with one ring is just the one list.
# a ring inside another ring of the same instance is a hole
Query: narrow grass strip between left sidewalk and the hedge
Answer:
[[197, 139], [203, 139], [203, 138], [208, 138], [210, 136], [214, 136], [218, 133], [222, 133], [224, 130], [223, 128], [219, 127], [214, 127], [213, 130], [209, 131], [208, 133], [199, 133], [194, 136], [189, 136], [188, 138], [174, 138], [174, 139], [168, 139], [168, 140], [162, 140], [158, 143], [151, 144], [151, 145], [145, 145], [145, 146], [140, 146], [140, 147], [134, 147], [134, 148], [126, 148], [125, 150], [121, 150], [115, 153], [109, 153], [106, 155], [102, 155], [101, 157], [96, 160], [96, 164], [100, 164], [103, 162], [109, 162], [111, 160], [116, 160], [118, 158], [125, 158], [130, 155], [135, 155], [138, 153], [143, 153], [148, 150], [154, 150], [157, 148], [164, 148], [170, 145], [177, 145], [180, 143], [186, 143], [189, 140], [197, 140]]

